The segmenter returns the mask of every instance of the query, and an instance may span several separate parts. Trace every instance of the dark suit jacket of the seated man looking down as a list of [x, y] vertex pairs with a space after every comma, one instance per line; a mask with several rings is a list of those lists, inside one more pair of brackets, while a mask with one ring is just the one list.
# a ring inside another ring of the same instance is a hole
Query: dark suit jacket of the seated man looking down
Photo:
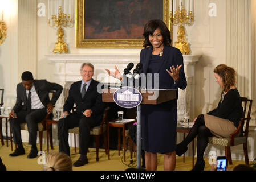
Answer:
[[[42, 104], [46, 107], [47, 104], [51, 102], [52, 105], [56, 103], [60, 94], [62, 93], [62, 86], [59, 84], [51, 83], [46, 80], [34, 80], [34, 86], [38, 97]], [[49, 92], [54, 90], [55, 93], [52, 96], [52, 99], [49, 98]], [[27, 95], [26, 88], [23, 86], [22, 82], [17, 85], [17, 98], [16, 104], [13, 107], [15, 113], [18, 113], [20, 110], [27, 109]]]

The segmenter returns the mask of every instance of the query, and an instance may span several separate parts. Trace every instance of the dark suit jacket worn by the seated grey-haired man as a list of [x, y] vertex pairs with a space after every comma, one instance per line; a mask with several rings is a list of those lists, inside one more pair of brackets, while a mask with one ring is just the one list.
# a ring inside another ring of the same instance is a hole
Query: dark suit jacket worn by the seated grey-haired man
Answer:
[[[95, 117], [95, 122], [99, 124], [103, 119], [103, 112], [105, 107], [104, 102], [102, 102], [102, 94], [97, 92], [97, 86], [99, 82], [92, 79], [91, 84], [89, 85], [87, 92], [83, 98], [80, 92], [81, 83], [82, 80], [74, 82], [70, 86], [68, 98], [63, 106], [63, 111], [68, 111], [68, 113], [70, 113], [71, 109], [73, 109], [75, 104], [75, 113], [78, 114], [80, 117], [83, 117], [83, 112], [86, 109], [91, 109], [92, 117]], [[99, 89], [101, 89], [101, 87]]]

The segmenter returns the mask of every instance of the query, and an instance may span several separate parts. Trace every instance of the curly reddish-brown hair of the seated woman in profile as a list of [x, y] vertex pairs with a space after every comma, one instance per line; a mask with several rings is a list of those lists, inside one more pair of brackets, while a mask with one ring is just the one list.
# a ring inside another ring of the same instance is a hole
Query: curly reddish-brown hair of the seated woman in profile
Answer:
[[225, 64], [219, 64], [216, 68], [214, 68], [213, 72], [217, 73], [222, 78], [222, 91], [227, 92], [231, 86], [235, 86], [236, 72], [234, 68], [228, 67]]

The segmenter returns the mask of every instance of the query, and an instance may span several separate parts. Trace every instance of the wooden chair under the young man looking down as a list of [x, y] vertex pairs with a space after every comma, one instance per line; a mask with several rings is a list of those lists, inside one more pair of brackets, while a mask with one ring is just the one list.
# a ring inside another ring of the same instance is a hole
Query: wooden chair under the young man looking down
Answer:
[[[49, 94], [52, 94], [52, 96], [54, 95], [55, 91], [50, 91]], [[46, 131], [46, 119], [51, 119], [53, 117], [53, 114], [46, 114], [46, 117], [42, 120], [42, 122], [38, 123], [38, 132], [39, 132], [39, 143], [40, 143], [40, 150], [43, 150], [43, 131]], [[27, 123], [21, 123], [21, 130], [29, 130], [27, 127]], [[50, 125], [50, 129], [49, 129], [49, 135], [50, 135], [50, 145], [51, 145], [51, 149], [54, 148], [53, 145], [53, 141], [52, 141], [52, 127]], [[11, 140], [11, 143], [13, 141]], [[11, 145], [12, 146], [12, 145]], [[15, 145], [15, 147], [17, 148], [17, 144]], [[11, 148], [11, 150], [13, 150], [13, 148]]]

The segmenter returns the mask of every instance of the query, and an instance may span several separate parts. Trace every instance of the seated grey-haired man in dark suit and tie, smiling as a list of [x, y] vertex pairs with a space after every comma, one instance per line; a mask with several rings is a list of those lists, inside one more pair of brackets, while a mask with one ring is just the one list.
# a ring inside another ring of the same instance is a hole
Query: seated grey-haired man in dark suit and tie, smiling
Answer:
[[[100, 125], [105, 106], [102, 102], [101, 90], [97, 91], [99, 82], [92, 79], [94, 65], [83, 63], [80, 74], [83, 79], [70, 86], [68, 98], [63, 106], [62, 117], [64, 118], [58, 121], [59, 151], [67, 155], [70, 155], [68, 129], [79, 127], [80, 158], [73, 164], [76, 167], [88, 163], [87, 150], [90, 142], [90, 130], [92, 127]], [[76, 110], [74, 113], [70, 113], [74, 104]]]

